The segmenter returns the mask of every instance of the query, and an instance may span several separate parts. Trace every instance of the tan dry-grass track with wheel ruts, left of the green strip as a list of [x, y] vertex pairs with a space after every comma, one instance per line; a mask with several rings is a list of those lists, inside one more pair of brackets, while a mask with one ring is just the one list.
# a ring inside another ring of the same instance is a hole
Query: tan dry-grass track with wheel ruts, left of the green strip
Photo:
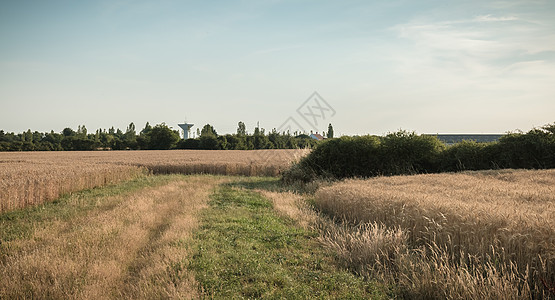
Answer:
[[35, 226], [0, 247], [0, 298], [196, 298], [183, 245], [223, 180], [181, 176]]

